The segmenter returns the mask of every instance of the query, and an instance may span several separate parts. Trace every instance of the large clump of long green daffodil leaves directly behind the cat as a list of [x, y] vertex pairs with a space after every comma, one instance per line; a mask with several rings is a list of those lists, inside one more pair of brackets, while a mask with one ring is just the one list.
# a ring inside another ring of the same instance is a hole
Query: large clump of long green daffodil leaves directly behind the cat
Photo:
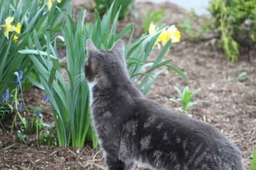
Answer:
[[[131, 32], [129, 42], [125, 46], [127, 69], [129, 70], [131, 80], [138, 85], [138, 88], [144, 95], [150, 89], [154, 78], [164, 71], [164, 69], [156, 70], [159, 67], [170, 67], [180, 75], [186, 77], [182, 71], [169, 65], [172, 61], [171, 59], [161, 62], [171, 44], [171, 40], [166, 42], [154, 62], [146, 62], [163, 29], [163, 25], [155, 34], [143, 34], [140, 38], [132, 42], [132, 24], [127, 25], [121, 32], [116, 34], [119, 11], [113, 24], [111, 24], [113, 7], [114, 4], [111, 5], [109, 11], [102, 17], [102, 20], [100, 20], [99, 13], [95, 10], [94, 23], [83, 22], [86, 17], [86, 11], [84, 11], [83, 15], [79, 11], [77, 24], [70, 17], [71, 13], [68, 14], [66, 20], [67, 25], [62, 29], [67, 50], [67, 82], [59, 70], [60, 64], [57, 59], [56, 38], [53, 42], [54, 46], [52, 46], [49, 32], [45, 35], [47, 53], [42, 51], [42, 46], [36, 38], [36, 32], [34, 35], [35, 42], [28, 46], [30, 50], [20, 50], [20, 53], [29, 54], [29, 58], [35, 64], [33, 71], [40, 77], [40, 82], [47, 96], [49, 96], [54, 122], [56, 124], [58, 145], [60, 146], [69, 146], [71, 142], [72, 146], [83, 148], [84, 141], [87, 139], [93, 142], [93, 147], [97, 147], [97, 138], [90, 121], [88, 85], [83, 73], [83, 64], [86, 58], [86, 39], [92, 39], [97, 48], [107, 50], [113, 46], [115, 41]], [[33, 78], [31, 80], [35, 85], [40, 85]]]

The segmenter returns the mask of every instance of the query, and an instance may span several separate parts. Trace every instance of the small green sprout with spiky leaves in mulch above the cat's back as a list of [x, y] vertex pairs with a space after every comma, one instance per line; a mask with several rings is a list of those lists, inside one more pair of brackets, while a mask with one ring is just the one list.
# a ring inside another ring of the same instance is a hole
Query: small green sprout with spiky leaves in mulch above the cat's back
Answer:
[[[195, 104], [209, 102], [205, 100], [192, 101], [193, 97], [195, 97], [196, 93], [199, 92], [200, 89], [197, 89], [194, 92], [189, 92], [188, 87], [185, 87], [184, 90], [181, 92], [178, 87], [173, 86], [173, 88], [178, 92], [179, 98], [178, 99], [170, 98], [169, 100], [181, 105], [179, 108], [179, 111], [181, 113], [188, 114], [189, 108], [191, 108]], [[190, 114], [189, 114], [189, 117], [191, 117]]]

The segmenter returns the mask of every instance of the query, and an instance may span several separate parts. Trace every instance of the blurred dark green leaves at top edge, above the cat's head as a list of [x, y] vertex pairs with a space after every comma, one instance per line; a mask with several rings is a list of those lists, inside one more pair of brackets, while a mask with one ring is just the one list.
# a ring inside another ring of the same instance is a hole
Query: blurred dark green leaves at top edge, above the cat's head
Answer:
[[111, 7], [111, 4], [114, 3], [112, 14], [111, 14], [111, 21], [114, 20], [116, 13], [118, 10], [119, 12], [119, 19], [123, 18], [124, 15], [131, 9], [132, 6], [134, 6], [135, 0], [94, 0], [94, 3], [96, 4], [96, 9], [100, 11], [100, 13], [106, 13]]

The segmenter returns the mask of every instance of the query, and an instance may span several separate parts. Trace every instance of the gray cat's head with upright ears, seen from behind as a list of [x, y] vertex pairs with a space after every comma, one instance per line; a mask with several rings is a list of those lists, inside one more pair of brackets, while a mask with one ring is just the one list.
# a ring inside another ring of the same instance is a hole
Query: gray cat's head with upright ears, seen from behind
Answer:
[[111, 81], [111, 79], [127, 76], [122, 40], [116, 41], [108, 51], [98, 50], [90, 39], [86, 44], [87, 57], [84, 63], [84, 74], [89, 82], [100, 78]]

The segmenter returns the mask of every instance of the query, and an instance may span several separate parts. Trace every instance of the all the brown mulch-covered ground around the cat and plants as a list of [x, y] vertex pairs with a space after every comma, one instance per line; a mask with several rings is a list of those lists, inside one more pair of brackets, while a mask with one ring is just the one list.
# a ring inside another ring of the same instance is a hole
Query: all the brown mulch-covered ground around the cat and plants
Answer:
[[[81, 2], [73, 3], [74, 8], [81, 6]], [[167, 8], [164, 12], [166, 24], [178, 24], [187, 16], [184, 10], [170, 3], [138, 3], [136, 10], [145, 13], [148, 8], [158, 10], [161, 6]], [[92, 11], [88, 13], [91, 18]], [[125, 17], [120, 21], [120, 27], [128, 22], [136, 23], [136, 36], [143, 33], [140, 19]], [[154, 60], [158, 52], [156, 48], [150, 60]], [[173, 85], [180, 89], [188, 86], [192, 91], [201, 89], [195, 99], [207, 99], [210, 102], [198, 104], [189, 113], [194, 118], [214, 125], [236, 143], [243, 152], [243, 161], [248, 167], [253, 146], [256, 146], [256, 58], [249, 61], [247, 54], [244, 54], [239, 62], [231, 63], [225, 60], [220, 50], [212, 46], [212, 39], [192, 41], [183, 35], [180, 43], [173, 44], [165, 56], [165, 59], [170, 58], [173, 59], [173, 66], [188, 74], [189, 80], [166, 69], [154, 82], [147, 97], [177, 110], [177, 104], [169, 101], [170, 97], [177, 98]], [[243, 71], [247, 72], [246, 80], [228, 81], [229, 77], [236, 78]], [[24, 95], [28, 107], [35, 108], [42, 101], [44, 92], [31, 88]], [[44, 121], [52, 122], [50, 104], [47, 103], [44, 108]], [[10, 134], [7, 125], [0, 135], [0, 169], [104, 169], [101, 150], [92, 149], [90, 144], [83, 150], [56, 146], [39, 148], [31, 137], [28, 144], [24, 145]]]

